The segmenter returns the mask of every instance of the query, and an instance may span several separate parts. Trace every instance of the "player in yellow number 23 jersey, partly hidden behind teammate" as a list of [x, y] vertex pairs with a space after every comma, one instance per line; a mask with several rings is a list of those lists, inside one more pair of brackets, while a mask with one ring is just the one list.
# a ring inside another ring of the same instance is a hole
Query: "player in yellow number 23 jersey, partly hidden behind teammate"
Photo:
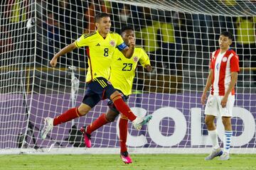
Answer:
[[[122, 28], [121, 35], [125, 44], [129, 45], [129, 37], [134, 38], [134, 30], [131, 27]], [[119, 52], [119, 50], [114, 50], [110, 81], [112, 82], [114, 88], [122, 94], [124, 101], [127, 101], [128, 96], [132, 94], [132, 82], [134, 80], [138, 62], [142, 64], [142, 66], [146, 68], [148, 72], [151, 72], [152, 68], [150, 65], [149, 56], [146, 55], [146, 52], [142, 47], [135, 47], [134, 54], [129, 59], [124, 57], [122, 52]], [[97, 118], [97, 120], [95, 120], [91, 125], [81, 128], [81, 131], [85, 137], [85, 145], [87, 147], [91, 147], [90, 134], [102, 127], [102, 125], [113, 122], [117, 115], [119, 115], [119, 111], [114, 106], [112, 101], [109, 101], [107, 105], [110, 108], [109, 111], [107, 111], [107, 114], [100, 115], [100, 117]], [[128, 130], [127, 125], [127, 116], [121, 113], [121, 118], [119, 121], [119, 138], [121, 147], [120, 157], [124, 163], [129, 164], [132, 163], [132, 159], [129, 157], [126, 146]]]

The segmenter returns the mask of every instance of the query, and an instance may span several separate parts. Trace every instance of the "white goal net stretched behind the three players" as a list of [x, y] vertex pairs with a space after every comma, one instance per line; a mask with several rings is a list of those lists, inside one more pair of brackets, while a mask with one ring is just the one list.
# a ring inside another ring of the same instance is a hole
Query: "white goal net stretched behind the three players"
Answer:
[[[210, 140], [200, 98], [209, 72], [210, 52], [223, 30], [233, 33], [240, 57], [233, 110], [233, 153], [255, 153], [255, 1], [1, 1], [0, 153], [119, 153], [118, 121], [92, 133], [87, 149], [79, 129], [107, 112], [101, 101], [86, 116], [53, 128], [46, 140], [43, 118], [78, 107], [85, 94], [84, 48], [53, 55], [83, 33], [95, 30], [97, 12], [110, 13], [112, 31], [132, 26], [137, 45], [150, 57], [153, 72], [139, 66], [129, 106], [153, 114], [148, 125], [129, 123], [131, 153], [206, 153]], [[217, 121], [223, 146], [223, 125]]]

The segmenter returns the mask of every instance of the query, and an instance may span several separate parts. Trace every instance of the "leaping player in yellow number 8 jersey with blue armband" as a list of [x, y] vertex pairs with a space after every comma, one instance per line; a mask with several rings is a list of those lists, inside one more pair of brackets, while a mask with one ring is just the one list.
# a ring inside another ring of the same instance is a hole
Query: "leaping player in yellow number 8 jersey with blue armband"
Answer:
[[111, 21], [107, 13], [97, 13], [95, 26], [97, 27], [95, 33], [82, 35], [78, 40], [60, 50], [50, 61], [50, 65], [55, 67], [61, 55], [65, 55], [77, 47], [87, 47], [89, 64], [86, 76], [87, 89], [85, 97], [78, 108], [70, 108], [56, 118], [45, 118], [45, 125], [41, 130], [42, 139], [46, 138], [53, 126], [86, 115], [91, 108], [105, 98], [112, 100], [117, 110], [127, 116], [132, 121], [134, 128], [138, 130], [151, 119], [151, 115], [137, 118], [129, 106], [124, 103], [119, 91], [114, 89], [110, 81], [107, 80], [110, 77], [110, 64], [113, 60], [114, 49], [117, 47], [125, 57], [132, 57], [134, 53], [134, 38], [132, 36], [129, 37], [128, 47], [119, 34], [110, 32]]

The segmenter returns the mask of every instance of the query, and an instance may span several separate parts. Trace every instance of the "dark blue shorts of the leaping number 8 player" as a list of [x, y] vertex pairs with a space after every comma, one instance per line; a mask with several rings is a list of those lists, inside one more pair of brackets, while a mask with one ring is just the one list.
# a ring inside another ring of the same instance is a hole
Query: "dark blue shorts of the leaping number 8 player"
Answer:
[[117, 91], [114, 89], [110, 81], [103, 77], [97, 77], [87, 84], [85, 96], [82, 99], [82, 103], [93, 108], [101, 100], [106, 98], [110, 99], [110, 96]]

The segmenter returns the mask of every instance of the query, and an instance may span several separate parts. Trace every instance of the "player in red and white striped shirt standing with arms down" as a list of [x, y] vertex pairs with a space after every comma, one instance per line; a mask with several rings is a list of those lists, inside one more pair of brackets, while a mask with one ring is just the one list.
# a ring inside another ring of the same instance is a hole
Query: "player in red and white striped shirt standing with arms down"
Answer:
[[[205, 122], [208, 128], [208, 134], [213, 142], [213, 151], [206, 157], [211, 160], [220, 156], [220, 160], [230, 158], [230, 142], [233, 134], [231, 126], [232, 110], [235, 103], [234, 86], [238, 80], [239, 59], [238, 55], [230, 49], [233, 35], [228, 31], [220, 34], [220, 49], [213, 52], [210, 57], [210, 73], [206, 82], [206, 88], [201, 97], [201, 103], [206, 101], [206, 93], [210, 89], [210, 95], [206, 103]], [[216, 130], [214, 119], [216, 116], [222, 117], [225, 128], [224, 150], [220, 149], [218, 144], [218, 132]]]

